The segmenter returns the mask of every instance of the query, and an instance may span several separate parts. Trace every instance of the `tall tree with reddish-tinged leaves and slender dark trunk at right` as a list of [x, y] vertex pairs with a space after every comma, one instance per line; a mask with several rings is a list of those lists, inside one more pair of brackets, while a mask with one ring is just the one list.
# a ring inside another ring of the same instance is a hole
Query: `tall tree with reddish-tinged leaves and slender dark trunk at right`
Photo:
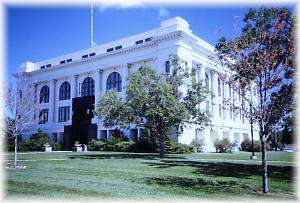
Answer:
[[[233, 70], [242, 87], [252, 90], [250, 82], [258, 85], [258, 103], [252, 107], [260, 128], [263, 192], [267, 193], [266, 142], [271, 134], [268, 126], [278, 113], [278, 105], [272, 104], [279, 101], [274, 92], [285, 84], [286, 74], [293, 77], [290, 70], [295, 67], [295, 17], [285, 8], [260, 8], [250, 9], [243, 22], [241, 33], [229, 40], [220, 38], [216, 51], [222, 64]], [[279, 106], [286, 109], [291, 102], [293, 99]]]

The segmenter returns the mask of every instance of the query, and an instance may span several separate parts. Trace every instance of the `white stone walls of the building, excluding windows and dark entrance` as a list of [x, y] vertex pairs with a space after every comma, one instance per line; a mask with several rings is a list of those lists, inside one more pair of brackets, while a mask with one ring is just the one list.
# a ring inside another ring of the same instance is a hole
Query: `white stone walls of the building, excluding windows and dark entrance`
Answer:
[[[138, 42], [139, 40], [143, 41]], [[109, 51], [110, 48], [114, 48], [114, 50]], [[48, 121], [44, 124], [31, 125], [23, 136], [28, 137], [40, 128], [61, 140], [64, 126], [72, 124], [72, 98], [80, 97], [85, 78], [91, 77], [94, 81], [95, 104], [97, 104], [99, 96], [106, 92], [107, 78], [111, 73], [120, 74], [122, 80], [120, 95], [124, 96], [127, 85], [126, 77], [131, 71], [137, 70], [146, 63], [157, 72], [165, 73], [166, 61], [169, 61], [170, 54], [177, 54], [186, 61], [188, 68], [197, 67], [198, 80], [205, 81], [208, 77], [206, 85], [215, 95], [201, 104], [201, 110], [211, 113], [211, 124], [185, 128], [178, 137], [178, 141], [190, 144], [195, 137], [204, 139], [205, 151], [215, 150], [213, 143], [216, 139], [228, 138], [231, 142], [236, 141], [240, 144], [246, 137], [251, 138], [249, 120], [243, 119], [242, 113], [232, 115], [232, 112], [223, 109], [223, 100], [230, 98], [230, 90], [229, 86], [221, 81], [220, 92], [218, 92], [218, 73], [222, 73], [224, 70], [211, 61], [209, 56], [213, 55], [213, 51], [213, 46], [192, 33], [187, 21], [176, 17], [163, 21], [160, 28], [142, 34], [54, 59], [37, 63], [26, 62], [21, 65], [21, 69], [27, 75], [31, 87], [34, 88], [35, 102], [39, 103], [40, 91], [45, 85], [49, 87], [49, 102], [40, 104], [40, 109], [48, 109]], [[86, 54], [88, 57], [83, 57]], [[92, 55], [90, 56], [90, 54]], [[72, 59], [72, 61], [67, 62], [68, 59]], [[47, 67], [47, 64], [51, 65]], [[70, 99], [60, 100], [60, 87], [66, 81], [70, 84]], [[22, 90], [22, 87], [20, 89]], [[25, 93], [23, 95], [26, 96]], [[240, 102], [238, 95], [233, 92], [231, 99], [234, 103]], [[59, 107], [65, 106], [70, 108], [69, 119], [61, 122]], [[38, 114], [37, 112], [35, 116], [33, 115], [32, 119], [37, 118]], [[97, 124], [97, 138], [99, 139], [103, 136], [101, 134], [109, 135], [109, 130], [112, 130], [103, 127], [97, 118], [93, 118], [92, 123]], [[132, 129], [135, 129], [135, 126], [132, 126]], [[125, 130], [124, 133], [128, 137], [137, 133], [137, 137], [139, 137], [141, 131], [140, 129], [137, 131]], [[257, 126], [254, 126], [254, 139], [258, 140], [258, 138]]]

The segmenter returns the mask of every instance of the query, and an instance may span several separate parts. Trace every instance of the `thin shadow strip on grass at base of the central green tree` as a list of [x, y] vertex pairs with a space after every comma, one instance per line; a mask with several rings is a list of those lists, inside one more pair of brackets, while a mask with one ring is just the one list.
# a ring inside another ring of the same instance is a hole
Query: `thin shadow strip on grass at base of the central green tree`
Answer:
[[[134, 154], [134, 153], [112, 153], [112, 154], [79, 154], [71, 155], [70, 159], [160, 159], [158, 154]], [[184, 157], [165, 155], [166, 159], [185, 159]]]

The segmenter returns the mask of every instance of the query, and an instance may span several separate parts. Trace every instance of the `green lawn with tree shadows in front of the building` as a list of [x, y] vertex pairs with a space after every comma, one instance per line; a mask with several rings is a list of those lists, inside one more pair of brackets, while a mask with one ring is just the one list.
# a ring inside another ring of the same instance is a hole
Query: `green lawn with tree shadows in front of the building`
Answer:
[[[6, 197], [296, 199], [295, 153], [269, 152], [270, 193], [250, 153], [167, 155], [120, 152], [20, 154], [6, 170]], [[257, 154], [258, 158], [260, 155]], [[6, 160], [12, 160], [12, 154]], [[7, 165], [9, 162], [6, 162]]]

